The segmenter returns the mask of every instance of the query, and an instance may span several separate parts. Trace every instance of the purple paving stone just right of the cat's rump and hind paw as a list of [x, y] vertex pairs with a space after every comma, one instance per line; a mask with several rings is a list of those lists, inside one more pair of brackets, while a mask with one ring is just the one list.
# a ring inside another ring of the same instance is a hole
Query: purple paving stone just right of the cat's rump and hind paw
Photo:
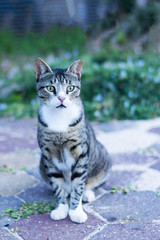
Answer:
[[111, 171], [106, 183], [103, 185], [103, 188], [111, 190], [112, 187], [116, 186], [121, 188], [126, 187], [136, 181], [141, 174], [141, 171]]

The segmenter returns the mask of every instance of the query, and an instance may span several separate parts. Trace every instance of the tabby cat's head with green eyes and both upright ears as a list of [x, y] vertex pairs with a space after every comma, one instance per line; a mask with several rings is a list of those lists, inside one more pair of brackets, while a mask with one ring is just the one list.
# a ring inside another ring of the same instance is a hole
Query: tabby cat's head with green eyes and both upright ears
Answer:
[[77, 60], [66, 69], [51, 69], [37, 58], [34, 71], [41, 101], [56, 109], [65, 109], [73, 104], [80, 94], [82, 65], [83, 62]]

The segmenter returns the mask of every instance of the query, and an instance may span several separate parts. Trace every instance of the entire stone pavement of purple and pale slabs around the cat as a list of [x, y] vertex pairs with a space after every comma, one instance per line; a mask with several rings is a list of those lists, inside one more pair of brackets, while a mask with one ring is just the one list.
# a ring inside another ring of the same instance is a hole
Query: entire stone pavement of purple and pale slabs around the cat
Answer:
[[[93, 124], [113, 158], [106, 184], [76, 224], [49, 214], [0, 219], [0, 240], [160, 240], [160, 119]], [[24, 202], [52, 201], [38, 172], [35, 119], [0, 119], [0, 214]]]

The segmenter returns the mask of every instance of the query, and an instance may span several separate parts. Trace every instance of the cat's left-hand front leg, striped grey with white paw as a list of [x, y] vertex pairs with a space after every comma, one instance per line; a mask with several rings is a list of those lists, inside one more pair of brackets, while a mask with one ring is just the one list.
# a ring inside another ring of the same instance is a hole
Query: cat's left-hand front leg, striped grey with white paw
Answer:
[[56, 208], [50, 213], [53, 220], [61, 220], [67, 217], [69, 207], [67, 203], [68, 193], [64, 188], [64, 179], [62, 172], [58, 171], [45, 156], [41, 157], [40, 170], [45, 179], [49, 182], [51, 189], [56, 198]]

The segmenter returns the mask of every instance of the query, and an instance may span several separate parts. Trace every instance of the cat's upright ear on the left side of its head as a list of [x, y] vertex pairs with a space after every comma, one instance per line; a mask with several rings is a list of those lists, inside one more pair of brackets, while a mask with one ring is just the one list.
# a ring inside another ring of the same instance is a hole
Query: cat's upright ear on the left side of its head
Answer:
[[52, 72], [52, 70], [41, 58], [36, 58], [34, 62], [34, 72], [36, 81], [38, 82], [41, 75]]

